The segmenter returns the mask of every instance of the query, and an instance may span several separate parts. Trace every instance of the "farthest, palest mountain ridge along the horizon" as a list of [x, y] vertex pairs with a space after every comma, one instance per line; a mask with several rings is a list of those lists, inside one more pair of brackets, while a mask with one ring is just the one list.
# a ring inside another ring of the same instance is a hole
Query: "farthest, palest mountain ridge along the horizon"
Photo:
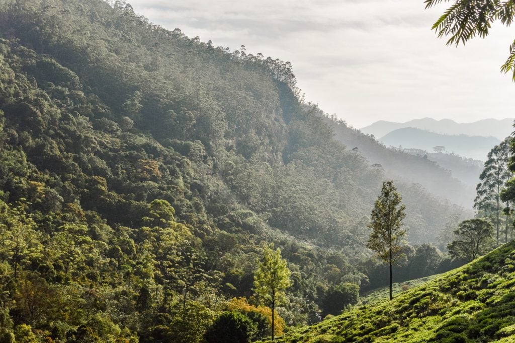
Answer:
[[[493, 136], [500, 141], [513, 132], [513, 118], [484, 119], [473, 123], [457, 123], [454, 120], [422, 118], [405, 123], [380, 120], [372, 125], [361, 128], [361, 132], [377, 137], [383, 137], [393, 130], [405, 127], [415, 127], [443, 135]], [[442, 144], [439, 144], [442, 145]], [[409, 148], [414, 148], [409, 146]], [[470, 156], [472, 157], [472, 156]]]

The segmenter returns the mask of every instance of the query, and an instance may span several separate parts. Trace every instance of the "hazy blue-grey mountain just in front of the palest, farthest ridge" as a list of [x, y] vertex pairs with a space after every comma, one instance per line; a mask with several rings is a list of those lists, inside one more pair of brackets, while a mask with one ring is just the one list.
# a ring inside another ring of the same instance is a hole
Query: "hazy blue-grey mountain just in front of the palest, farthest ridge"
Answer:
[[442, 135], [414, 127], [393, 130], [378, 140], [386, 146], [403, 146], [429, 152], [439, 145], [444, 146], [448, 152], [480, 160], [485, 160], [488, 152], [501, 142], [492, 136]]

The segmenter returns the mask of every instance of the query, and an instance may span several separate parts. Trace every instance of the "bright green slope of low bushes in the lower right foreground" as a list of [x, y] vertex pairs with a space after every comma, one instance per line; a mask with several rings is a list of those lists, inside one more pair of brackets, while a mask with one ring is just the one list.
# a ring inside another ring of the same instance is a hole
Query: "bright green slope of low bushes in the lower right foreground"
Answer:
[[278, 342], [513, 342], [515, 243], [392, 301], [374, 302]]

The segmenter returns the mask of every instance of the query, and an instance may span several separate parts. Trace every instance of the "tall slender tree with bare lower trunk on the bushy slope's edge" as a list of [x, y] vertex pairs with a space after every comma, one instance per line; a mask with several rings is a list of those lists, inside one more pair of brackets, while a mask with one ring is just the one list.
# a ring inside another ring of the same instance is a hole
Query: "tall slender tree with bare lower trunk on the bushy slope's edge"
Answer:
[[393, 185], [393, 181], [383, 182], [381, 195], [375, 201], [370, 224], [372, 229], [367, 241], [367, 248], [375, 251], [377, 257], [390, 268], [390, 300], [392, 295], [392, 265], [402, 256], [402, 247], [407, 231], [402, 227], [406, 217], [406, 206], [402, 204], [401, 194]]

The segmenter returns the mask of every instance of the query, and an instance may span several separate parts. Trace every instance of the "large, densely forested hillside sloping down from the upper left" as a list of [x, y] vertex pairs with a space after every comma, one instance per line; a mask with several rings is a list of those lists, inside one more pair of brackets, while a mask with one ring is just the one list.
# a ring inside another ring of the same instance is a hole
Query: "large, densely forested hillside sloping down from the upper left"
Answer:
[[[364, 241], [385, 177], [306, 110], [289, 62], [123, 2], [0, 1], [5, 341], [200, 341], [233, 297], [257, 304], [265, 243], [292, 271], [285, 325], [319, 321], [334, 285], [384, 282]], [[398, 186], [411, 244], [467, 215]], [[441, 265], [421, 247], [404, 277]]]

